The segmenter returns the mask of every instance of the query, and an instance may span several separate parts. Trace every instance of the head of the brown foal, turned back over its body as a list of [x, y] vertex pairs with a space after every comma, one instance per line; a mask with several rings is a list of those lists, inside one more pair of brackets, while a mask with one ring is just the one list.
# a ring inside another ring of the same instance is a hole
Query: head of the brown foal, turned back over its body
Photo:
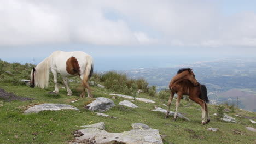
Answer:
[[179, 69], [177, 75], [182, 75], [183, 79], [187, 79], [193, 83], [194, 86], [199, 85], [197, 80], [195, 79], [195, 74], [193, 73], [192, 69], [190, 68], [183, 68]]

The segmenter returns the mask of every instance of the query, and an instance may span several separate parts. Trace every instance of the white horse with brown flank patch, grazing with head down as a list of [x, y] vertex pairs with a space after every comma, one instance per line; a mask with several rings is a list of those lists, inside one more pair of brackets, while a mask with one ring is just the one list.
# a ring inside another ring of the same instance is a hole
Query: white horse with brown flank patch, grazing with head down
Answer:
[[66, 77], [79, 76], [82, 80], [83, 92], [80, 97], [84, 97], [85, 88], [87, 89], [88, 97], [92, 98], [92, 94], [89, 88], [88, 81], [94, 70], [94, 62], [92, 57], [84, 52], [63, 52], [55, 51], [44, 61], [40, 62], [31, 71], [30, 87], [48, 87], [49, 83], [49, 71], [54, 76], [55, 89], [54, 93], [59, 93], [57, 86], [57, 73], [61, 74], [63, 81], [67, 87], [67, 95], [72, 95], [71, 89], [68, 87]]

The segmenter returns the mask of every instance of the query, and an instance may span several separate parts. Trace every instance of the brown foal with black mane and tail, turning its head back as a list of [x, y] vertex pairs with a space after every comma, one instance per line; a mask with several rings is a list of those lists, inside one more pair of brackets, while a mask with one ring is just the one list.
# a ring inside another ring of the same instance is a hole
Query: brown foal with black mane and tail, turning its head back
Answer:
[[[168, 109], [166, 113], [166, 118], [168, 118], [170, 112], [170, 105], [174, 94], [177, 94], [176, 101], [176, 111], [174, 115], [174, 121], [176, 121], [178, 115], [179, 101], [182, 95], [189, 95], [189, 98], [195, 101], [202, 107], [202, 124], [210, 122], [210, 117], [208, 113], [208, 106], [206, 103], [209, 102], [207, 97], [207, 89], [205, 85], [201, 85], [195, 79], [195, 75], [190, 68], [179, 69], [177, 75], [173, 77], [169, 85], [170, 88], [170, 98], [168, 100]], [[207, 115], [207, 122], [205, 122], [205, 111]]]

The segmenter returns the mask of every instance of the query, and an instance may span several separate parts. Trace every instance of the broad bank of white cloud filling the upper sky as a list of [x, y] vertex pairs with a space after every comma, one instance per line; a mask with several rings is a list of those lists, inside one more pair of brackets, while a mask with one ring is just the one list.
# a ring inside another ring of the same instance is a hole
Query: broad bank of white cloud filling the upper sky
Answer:
[[0, 46], [256, 47], [255, 26], [255, 13], [225, 16], [219, 1], [0, 1]]

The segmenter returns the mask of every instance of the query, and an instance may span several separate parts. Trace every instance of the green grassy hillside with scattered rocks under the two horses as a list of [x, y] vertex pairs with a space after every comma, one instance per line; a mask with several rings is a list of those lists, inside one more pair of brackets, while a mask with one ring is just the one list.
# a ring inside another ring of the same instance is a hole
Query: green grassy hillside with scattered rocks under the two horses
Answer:
[[[153, 129], [159, 129], [164, 143], [254, 143], [256, 133], [245, 128], [254, 127], [255, 124], [249, 122], [249, 119], [256, 121], [256, 113], [235, 109], [235, 113], [231, 113], [226, 108], [227, 115], [236, 118], [237, 123], [227, 123], [220, 121], [216, 116], [217, 105], [209, 105], [211, 122], [206, 125], [201, 124], [201, 107], [193, 101], [181, 100], [179, 113], [188, 117], [191, 121], [177, 118], [173, 122], [173, 118], [165, 119], [165, 114], [153, 112], [155, 106], [166, 107], [167, 98], [160, 99], [157, 96], [148, 96], [148, 93], [142, 93], [135, 97], [144, 97], [156, 101], [156, 104], [146, 104], [142, 101], [135, 101], [134, 104], [139, 106], [132, 109], [118, 105], [119, 101], [124, 98], [112, 99], [109, 93], [117, 93], [113, 89], [105, 89], [92, 87], [94, 97], [110, 98], [117, 105], [113, 109], [105, 112], [107, 115], [117, 118], [96, 116], [95, 112], [84, 109], [84, 106], [92, 99], [80, 98], [78, 95], [80, 84], [69, 82], [69, 86], [73, 91], [73, 96], [67, 96], [65, 88], [60, 82], [60, 93], [57, 95], [48, 94], [54, 90], [52, 80], [46, 89], [30, 88], [26, 84], [19, 82], [19, 79], [26, 78], [29, 73], [30, 65], [27, 70], [15, 70], [11, 64], [2, 67], [0, 74], [0, 88], [10, 93], [33, 98], [28, 101], [11, 101], [8, 102], [0, 99], [0, 143], [67, 143], [74, 139], [72, 132], [79, 129], [77, 126], [88, 125], [98, 122], [106, 124], [106, 131], [120, 133], [132, 129], [132, 123], [144, 123]], [[13, 75], [4, 73], [9, 70]], [[77, 79], [77, 78], [75, 78]], [[101, 82], [101, 81], [99, 81]], [[102, 83], [103, 84], [103, 83]], [[120, 93], [120, 92], [118, 92]], [[80, 99], [75, 103], [72, 100]], [[175, 100], [173, 100], [171, 111], [174, 111]], [[63, 110], [63, 111], [43, 111], [38, 114], [24, 115], [24, 110], [31, 105], [43, 103], [60, 103], [69, 104], [77, 107], [80, 111]], [[240, 115], [241, 117], [236, 117]], [[206, 130], [207, 128], [219, 128], [217, 132]]]

